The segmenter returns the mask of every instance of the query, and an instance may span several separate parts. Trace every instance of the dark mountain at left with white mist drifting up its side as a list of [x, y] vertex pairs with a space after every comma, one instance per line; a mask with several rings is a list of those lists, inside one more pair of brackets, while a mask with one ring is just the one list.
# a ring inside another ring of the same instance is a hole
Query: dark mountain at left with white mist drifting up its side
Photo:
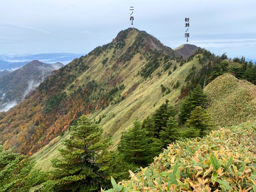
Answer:
[[[45, 64], [33, 60], [25, 66], [0, 77], [0, 111], [6, 111], [22, 101], [52, 71], [63, 67], [62, 63]], [[8, 71], [2, 71], [8, 72]]]

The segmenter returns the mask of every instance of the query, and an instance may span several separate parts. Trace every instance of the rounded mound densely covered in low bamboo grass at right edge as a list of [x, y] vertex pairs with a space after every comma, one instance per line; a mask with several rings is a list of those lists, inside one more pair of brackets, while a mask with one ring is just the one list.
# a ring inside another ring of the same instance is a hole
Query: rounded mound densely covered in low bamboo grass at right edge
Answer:
[[211, 99], [208, 112], [217, 125], [237, 125], [256, 119], [256, 86], [233, 75], [213, 80], [204, 91]]

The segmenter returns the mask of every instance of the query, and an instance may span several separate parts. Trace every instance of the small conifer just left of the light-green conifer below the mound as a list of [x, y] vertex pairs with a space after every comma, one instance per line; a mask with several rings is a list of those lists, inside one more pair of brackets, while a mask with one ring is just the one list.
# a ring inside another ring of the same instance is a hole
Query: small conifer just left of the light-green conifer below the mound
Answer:
[[173, 117], [169, 117], [166, 127], [163, 127], [159, 136], [162, 142], [162, 148], [166, 148], [168, 144], [179, 138], [178, 123]]

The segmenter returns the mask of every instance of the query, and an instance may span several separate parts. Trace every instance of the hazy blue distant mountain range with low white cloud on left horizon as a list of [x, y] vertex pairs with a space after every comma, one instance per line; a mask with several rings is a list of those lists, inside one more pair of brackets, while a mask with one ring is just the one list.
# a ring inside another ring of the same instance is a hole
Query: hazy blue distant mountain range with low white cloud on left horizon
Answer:
[[0, 70], [14, 71], [32, 60], [38, 60], [46, 64], [54, 64], [61, 62], [68, 64], [75, 58], [79, 58], [84, 54], [74, 53], [42, 53], [42, 54], [25, 54], [25, 55], [0, 55]]

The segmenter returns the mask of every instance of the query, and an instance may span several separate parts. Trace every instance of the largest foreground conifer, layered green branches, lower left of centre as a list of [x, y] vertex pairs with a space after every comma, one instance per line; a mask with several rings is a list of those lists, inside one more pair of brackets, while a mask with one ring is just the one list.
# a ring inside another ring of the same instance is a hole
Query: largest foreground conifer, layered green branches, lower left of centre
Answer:
[[[61, 159], [53, 159], [53, 191], [97, 191], [102, 180], [98, 161], [99, 151], [105, 150], [110, 138], [102, 139], [102, 127], [82, 115], [77, 126], [72, 126], [71, 138], [63, 140]], [[45, 183], [45, 186], [48, 186]], [[44, 191], [44, 190], [42, 190]]]

